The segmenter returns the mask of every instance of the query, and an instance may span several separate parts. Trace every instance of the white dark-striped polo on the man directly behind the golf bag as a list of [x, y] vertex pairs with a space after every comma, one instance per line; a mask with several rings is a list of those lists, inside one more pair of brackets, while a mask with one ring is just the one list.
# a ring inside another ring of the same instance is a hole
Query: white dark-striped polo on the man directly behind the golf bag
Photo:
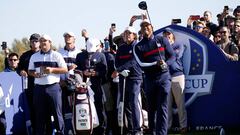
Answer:
[[[73, 50], [67, 50], [66, 48], [59, 49], [59, 53], [62, 54], [68, 67], [75, 63], [77, 54], [80, 52], [81, 51], [76, 48], [74, 48]], [[66, 80], [69, 75], [73, 74], [74, 74], [73, 70], [68, 70], [67, 74], [61, 74], [61, 80]]]

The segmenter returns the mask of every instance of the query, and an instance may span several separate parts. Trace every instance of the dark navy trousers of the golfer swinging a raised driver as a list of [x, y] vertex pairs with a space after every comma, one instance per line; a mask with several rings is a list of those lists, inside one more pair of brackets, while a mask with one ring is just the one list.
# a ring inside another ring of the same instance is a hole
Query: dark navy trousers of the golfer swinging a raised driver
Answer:
[[169, 73], [162, 76], [145, 77], [145, 93], [148, 101], [149, 130], [154, 135], [167, 135], [168, 103], [167, 97], [171, 89]]

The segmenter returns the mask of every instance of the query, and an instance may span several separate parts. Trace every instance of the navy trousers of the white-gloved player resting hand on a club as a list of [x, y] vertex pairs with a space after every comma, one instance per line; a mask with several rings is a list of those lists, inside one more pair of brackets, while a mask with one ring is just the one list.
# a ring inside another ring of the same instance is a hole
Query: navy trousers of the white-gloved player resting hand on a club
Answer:
[[[136, 134], [141, 132], [140, 113], [138, 96], [141, 90], [142, 80], [126, 79], [124, 111], [127, 117], [127, 132]], [[123, 78], [120, 78], [120, 92], [123, 93]]]

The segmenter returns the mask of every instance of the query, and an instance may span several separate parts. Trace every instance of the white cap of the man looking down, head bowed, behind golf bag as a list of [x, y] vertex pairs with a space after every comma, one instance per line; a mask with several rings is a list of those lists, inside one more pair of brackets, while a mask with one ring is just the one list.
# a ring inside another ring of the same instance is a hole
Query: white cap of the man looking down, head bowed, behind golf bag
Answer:
[[100, 46], [100, 40], [97, 38], [89, 38], [87, 40], [86, 46], [88, 52], [96, 52]]

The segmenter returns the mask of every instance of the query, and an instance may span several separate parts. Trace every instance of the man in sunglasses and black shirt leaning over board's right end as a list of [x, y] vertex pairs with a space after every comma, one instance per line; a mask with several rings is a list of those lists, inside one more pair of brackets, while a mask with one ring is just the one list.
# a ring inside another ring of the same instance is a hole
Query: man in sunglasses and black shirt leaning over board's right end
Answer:
[[222, 27], [219, 32], [221, 33], [220, 46], [223, 53], [231, 61], [237, 61], [239, 50], [236, 44], [229, 39], [230, 30], [227, 27]]

